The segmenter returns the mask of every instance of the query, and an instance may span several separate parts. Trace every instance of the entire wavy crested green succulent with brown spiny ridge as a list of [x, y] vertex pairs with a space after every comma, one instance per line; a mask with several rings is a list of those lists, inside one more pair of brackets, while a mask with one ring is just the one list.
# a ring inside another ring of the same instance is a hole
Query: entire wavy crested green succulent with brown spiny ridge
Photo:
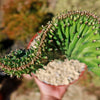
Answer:
[[100, 20], [96, 15], [65, 11], [48, 22], [39, 35], [36, 48], [18, 50], [1, 58], [2, 70], [20, 76], [35, 72], [53, 59], [68, 58], [85, 63], [89, 70], [100, 75]]

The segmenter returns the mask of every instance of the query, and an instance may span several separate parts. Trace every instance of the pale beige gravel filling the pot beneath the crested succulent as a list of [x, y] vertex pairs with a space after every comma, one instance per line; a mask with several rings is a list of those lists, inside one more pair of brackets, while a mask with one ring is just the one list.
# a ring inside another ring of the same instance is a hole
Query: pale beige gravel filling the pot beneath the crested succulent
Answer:
[[78, 60], [53, 60], [47, 66], [44, 66], [44, 69], [37, 70], [35, 75], [47, 84], [68, 85], [78, 79], [84, 70], [85, 64], [80, 63]]

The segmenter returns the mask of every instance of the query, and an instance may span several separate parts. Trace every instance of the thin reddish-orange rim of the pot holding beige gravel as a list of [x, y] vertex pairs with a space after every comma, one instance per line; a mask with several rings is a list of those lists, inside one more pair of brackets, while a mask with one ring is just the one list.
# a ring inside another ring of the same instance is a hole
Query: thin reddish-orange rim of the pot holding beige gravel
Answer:
[[[39, 31], [38, 33], [41, 33], [41, 31]], [[36, 34], [32, 37], [32, 39], [30, 40], [30, 42], [29, 42], [29, 44], [28, 44], [28, 46], [27, 46], [27, 49], [29, 49], [29, 47], [30, 47], [30, 45], [31, 45], [31, 42], [32, 42], [37, 36], [38, 36], [38, 34], [36, 33]], [[78, 81], [78, 80], [83, 76], [83, 74], [85, 73], [86, 69], [87, 69], [87, 65], [85, 65], [85, 68], [84, 68], [84, 70], [81, 72], [81, 74], [79, 75], [78, 79], [74, 80], [73, 82], [69, 83], [68, 85], [58, 85], [58, 86], [56, 86], [56, 87], [69, 86], [69, 85], [71, 85], [71, 84], [74, 84], [76, 81]], [[33, 73], [33, 74], [34, 74], [34, 73]], [[35, 75], [34, 75], [34, 76], [35, 76]], [[38, 79], [36, 76], [35, 76], [35, 78]], [[39, 80], [39, 79], [38, 79], [38, 80]], [[40, 80], [39, 80], [39, 81], [40, 81]], [[55, 85], [47, 84], [47, 83], [45, 83], [45, 82], [43, 82], [43, 81], [40, 81], [40, 82], [42, 82], [43, 84], [46, 84], [46, 85], [48, 85], [48, 86], [55, 87]]]

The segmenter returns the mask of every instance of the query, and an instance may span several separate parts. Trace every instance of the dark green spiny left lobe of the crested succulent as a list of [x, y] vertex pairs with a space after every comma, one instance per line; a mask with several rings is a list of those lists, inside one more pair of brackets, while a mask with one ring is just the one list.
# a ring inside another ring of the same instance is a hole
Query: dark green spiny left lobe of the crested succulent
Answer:
[[[12, 51], [7, 56], [0, 58], [0, 68], [10, 76], [20, 77], [22, 74], [30, 74], [42, 67], [39, 60], [35, 61], [35, 56], [36, 50], [33, 48]], [[40, 66], [38, 67], [37, 64]]]

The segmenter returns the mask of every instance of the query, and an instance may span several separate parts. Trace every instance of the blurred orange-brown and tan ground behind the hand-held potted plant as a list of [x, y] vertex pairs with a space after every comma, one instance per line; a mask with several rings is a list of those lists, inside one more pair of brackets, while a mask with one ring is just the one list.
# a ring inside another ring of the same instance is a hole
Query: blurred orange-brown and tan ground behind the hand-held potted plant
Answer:
[[[0, 0], [0, 56], [11, 50], [26, 48], [32, 36], [41, 30], [41, 25], [64, 10], [87, 10], [100, 17], [100, 0]], [[2, 80], [1, 89], [8, 80], [9, 84], [19, 82], [8, 76]], [[39, 100], [39, 89], [33, 79], [24, 78], [18, 87], [11, 92], [11, 100]], [[69, 87], [63, 98], [84, 99], [100, 100], [100, 77], [88, 71]]]

